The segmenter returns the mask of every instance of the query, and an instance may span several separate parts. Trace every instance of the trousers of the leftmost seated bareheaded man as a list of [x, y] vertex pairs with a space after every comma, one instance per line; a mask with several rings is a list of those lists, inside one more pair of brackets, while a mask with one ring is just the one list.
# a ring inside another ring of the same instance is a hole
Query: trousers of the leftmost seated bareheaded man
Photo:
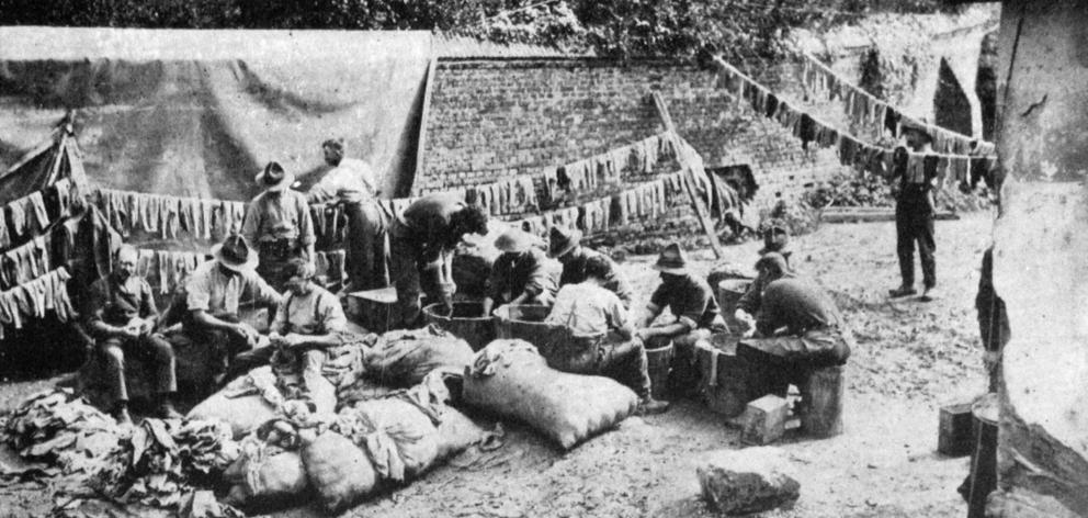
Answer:
[[128, 386], [125, 383], [125, 369], [133, 363], [154, 365], [156, 394], [178, 392], [177, 360], [170, 342], [156, 335], [145, 335], [136, 339], [107, 338], [99, 347], [105, 356], [109, 374], [110, 395], [114, 402], [128, 401]]

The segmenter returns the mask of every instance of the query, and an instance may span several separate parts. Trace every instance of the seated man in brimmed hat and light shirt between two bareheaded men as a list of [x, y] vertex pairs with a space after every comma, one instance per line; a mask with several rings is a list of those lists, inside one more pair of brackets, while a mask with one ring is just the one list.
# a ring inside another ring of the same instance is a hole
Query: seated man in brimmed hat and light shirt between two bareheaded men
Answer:
[[185, 285], [182, 329], [193, 341], [212, 345], [226, 362], [256, 347], [260, 336], [239, 318], [241, 302], [275, 311], [280, 294], [257, 274], [257, 254], [241, 236], [228, 236], [212, 255], [215, 259], [193, 270]]

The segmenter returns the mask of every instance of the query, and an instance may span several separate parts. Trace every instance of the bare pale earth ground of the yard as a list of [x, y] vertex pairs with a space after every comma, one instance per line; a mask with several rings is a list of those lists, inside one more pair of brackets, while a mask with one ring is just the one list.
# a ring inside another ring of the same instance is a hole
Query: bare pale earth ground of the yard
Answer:
[[[888, 302], [898, 282], [892, 223], [824, 225], [793, 240], [792, 262], [835, 293], [854, 328], [858, 349], [847, 375], [846, 433], [829, 440], [787, 436], [802, 496], [793, 509], [764, 517], [959, 517], [955, 493], [967, 460], [936, 452], [942, 402], [985, 388], [974, 293], [988, 213], [938, 222], [933, 303]], [[727, 248], [726, 260], [748, 264], [759, 245]], [[715, 262], [695, 254], [701, 272]], [[653, 257], [622, 268], [648, 297], [656, 284]], [[919, 274], [920, 278], [920, 274]], [[0, 410], [48, 382], [0, 387]], [[506, 444], [475, 449], [423, 480], [356, 507], [350, 516], [597, 517], [714, 516], [699, 499], [695, 466], [704, 452], [740, 448], [737, 430], [700, 404], [680, 402], [659, 416], [631, 418], [619, 429], [563, 453], [514, 424]], [[0, 516], [44, 515], [47, 492], [0, 488]], [[320, 516], [310, 506], [276, 517]]]

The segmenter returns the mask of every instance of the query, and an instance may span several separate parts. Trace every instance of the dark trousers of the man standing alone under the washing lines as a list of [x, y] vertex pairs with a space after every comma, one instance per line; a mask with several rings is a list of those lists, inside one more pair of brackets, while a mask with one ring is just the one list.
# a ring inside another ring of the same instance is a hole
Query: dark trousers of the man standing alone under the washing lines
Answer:
[[915, 243], [918, 244], [918, 258], [921, 262], [922, 281], [926, 288], [937, 285], [937, 263], [933, 252], [933, 211], [927, 201], [926, 191], [907, 188], [899, 194], [895, 205], [896, 252], [899, 256], [899, 274], [903, 285], [915, 283]]

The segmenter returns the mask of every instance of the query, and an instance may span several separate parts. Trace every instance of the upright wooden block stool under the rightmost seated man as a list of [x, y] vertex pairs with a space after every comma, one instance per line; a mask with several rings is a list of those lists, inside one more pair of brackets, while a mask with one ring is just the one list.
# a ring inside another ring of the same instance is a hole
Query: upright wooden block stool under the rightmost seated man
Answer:
[[801, 430], [806, 436], [827, 438], [842, 433], [843, 365], [805, 372], [798, 380]]

